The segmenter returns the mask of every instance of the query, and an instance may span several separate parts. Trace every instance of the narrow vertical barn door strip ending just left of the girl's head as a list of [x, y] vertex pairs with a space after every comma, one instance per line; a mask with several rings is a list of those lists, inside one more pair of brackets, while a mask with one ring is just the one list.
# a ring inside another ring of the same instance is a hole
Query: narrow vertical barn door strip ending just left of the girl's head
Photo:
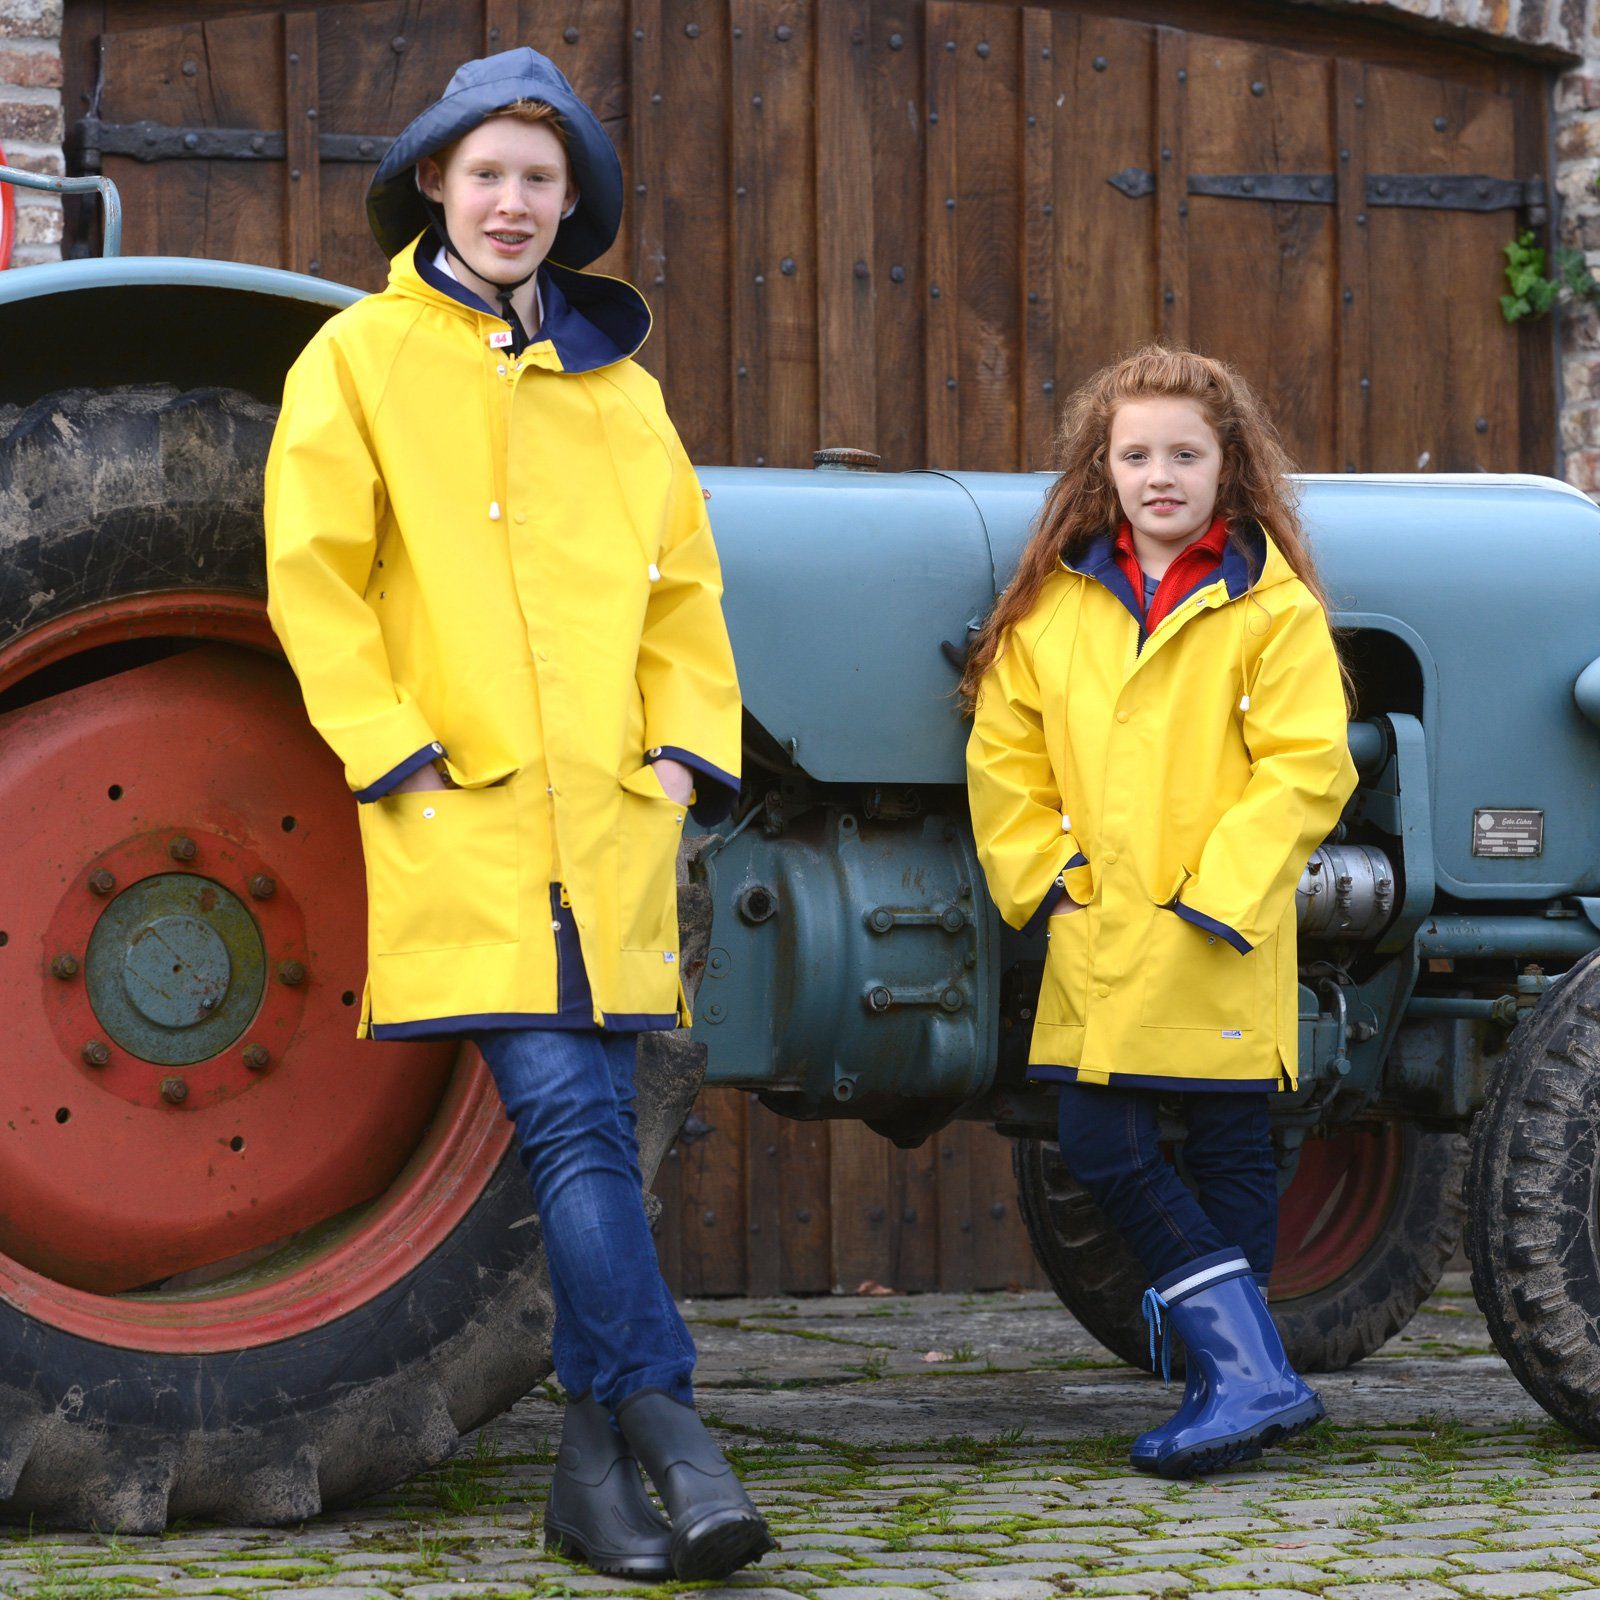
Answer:
[[[1072, 59], [1077, 19], [1022, 11], [1022, 253], [1018, 469], [1051, 464], [1056, 432], [1056, 83]], [[1067, 43], [1066, 61], [1058, 58]]]

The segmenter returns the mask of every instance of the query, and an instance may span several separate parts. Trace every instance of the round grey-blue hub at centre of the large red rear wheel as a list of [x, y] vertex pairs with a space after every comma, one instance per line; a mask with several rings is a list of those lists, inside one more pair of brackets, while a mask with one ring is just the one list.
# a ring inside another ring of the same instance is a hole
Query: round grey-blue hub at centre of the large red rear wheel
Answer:
[[237, 894], [190, 872], [123, 890], [90, 934], [88, 1000], [130, 1054], [205, 1061], [250, 1027], [266, 989], [261, 930]]

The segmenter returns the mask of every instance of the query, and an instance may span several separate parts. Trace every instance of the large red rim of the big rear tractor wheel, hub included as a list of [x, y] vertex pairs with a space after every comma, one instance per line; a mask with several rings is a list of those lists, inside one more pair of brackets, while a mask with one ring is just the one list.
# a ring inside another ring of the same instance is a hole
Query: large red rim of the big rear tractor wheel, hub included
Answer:
[[[139, 640], [163, 643], [115, 650]], [[0, 715], [0, 826], [26, 840], [0, 1298], [146, 1350], [315, 1328], [472, 1208], [510, 1138], [493, 1083], [450, 1042], [355, 1045], [354, 803], [258, 600], [75, 613], [0, 650], [0, 694], [46, 667], [58, 691]]]

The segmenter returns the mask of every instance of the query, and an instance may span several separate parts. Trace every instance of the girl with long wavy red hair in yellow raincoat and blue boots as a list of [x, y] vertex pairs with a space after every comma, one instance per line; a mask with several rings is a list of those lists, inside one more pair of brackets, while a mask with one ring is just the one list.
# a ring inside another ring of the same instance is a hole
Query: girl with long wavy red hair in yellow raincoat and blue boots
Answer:
[[[1210, 1472], [1322, 1414], [1266, 1307], [1267, 1099], [1296, 1082], [1294, 885], [1355, 789], [1288, 461], [1221, 362], [1149, 346], [1069, 402], [1061, 477], [962, 680], [978, 851], [1046, 925], [1029, 1075], [1154, 1280], [1189, 1382], [1134, 1466]], [[1157, 1147], [1181, 1094], [1197, 1194]]]

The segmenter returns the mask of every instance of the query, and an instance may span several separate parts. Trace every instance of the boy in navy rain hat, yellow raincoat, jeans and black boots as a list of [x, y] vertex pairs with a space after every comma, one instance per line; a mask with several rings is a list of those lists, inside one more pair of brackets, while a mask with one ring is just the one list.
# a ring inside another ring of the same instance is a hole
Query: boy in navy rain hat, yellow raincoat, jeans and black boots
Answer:
[[634, 1048], [688, 1021], [678, 837], [738, 794], [739, 693], [704, 499], [632, 362], [650, 312], [578, 270], [621, 202], [605, 130], [531, 50], [467, 62], [395, 139], [368, 194], [389, 286], [285, 387], [269, 610], [360, 802], [358, 1032], [470, 1038], [517, 1128], [570, 1397], [546, 1539], [722, 1578], [771, 1541], [693, 1410]]

